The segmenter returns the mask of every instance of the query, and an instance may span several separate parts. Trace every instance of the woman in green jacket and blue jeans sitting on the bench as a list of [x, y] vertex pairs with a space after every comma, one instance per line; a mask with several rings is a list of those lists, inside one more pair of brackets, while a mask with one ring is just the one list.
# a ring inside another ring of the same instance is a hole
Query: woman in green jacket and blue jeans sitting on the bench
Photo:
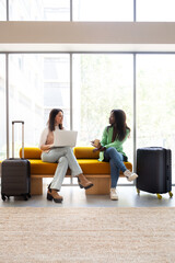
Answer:
[[100, 140], [93, 140], [92, 145], [95, 147], [94, 151], [100, 150], [100, 161], [106, 161], [110, 164], [110, 199], [117, 201], [118, 195], [116, 186], [119, 178], [119, 171], [129, 182], [138, 178], [136, 173], [127, 170], [124, 161], [128, 158], [122, 151], [122, 144], [130, 134], [130, 128], [126, 124], [126, 114], [122, 110], [113, 110], [109, 116], [109, 126], [106, 126], [103, 132], [103, 137]]

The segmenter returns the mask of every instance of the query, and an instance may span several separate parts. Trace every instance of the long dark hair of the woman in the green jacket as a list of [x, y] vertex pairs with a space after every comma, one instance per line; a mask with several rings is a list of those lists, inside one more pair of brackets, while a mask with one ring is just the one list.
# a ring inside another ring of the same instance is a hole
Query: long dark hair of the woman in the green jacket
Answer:
[[130, 128], [126, 124], [126, 113], [122, 110], [113, 110], [112, 113], [114, 114], [115, 118], [115, 123], [108, 126], [108, 128], [112, 126], [114, 127], [112, 141], [115, 139], [121, 141], [127, 134], [127, 129], [130, 132]]

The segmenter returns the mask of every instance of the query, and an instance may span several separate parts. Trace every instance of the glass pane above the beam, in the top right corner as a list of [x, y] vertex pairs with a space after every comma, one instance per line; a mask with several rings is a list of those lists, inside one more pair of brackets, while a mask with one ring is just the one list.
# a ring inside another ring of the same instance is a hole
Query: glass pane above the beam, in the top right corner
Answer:
[[174, 0], [137, 1], [137, 21], [175, 21]]

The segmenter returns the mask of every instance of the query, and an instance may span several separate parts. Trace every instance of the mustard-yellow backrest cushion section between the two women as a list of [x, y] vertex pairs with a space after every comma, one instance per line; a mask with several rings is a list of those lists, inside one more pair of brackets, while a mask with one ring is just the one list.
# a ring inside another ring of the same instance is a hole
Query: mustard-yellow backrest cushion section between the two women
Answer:
[[94, 147], [74, 147], [73, 152], [77, 159], [98, 159], [100, 151], [93, 152]]

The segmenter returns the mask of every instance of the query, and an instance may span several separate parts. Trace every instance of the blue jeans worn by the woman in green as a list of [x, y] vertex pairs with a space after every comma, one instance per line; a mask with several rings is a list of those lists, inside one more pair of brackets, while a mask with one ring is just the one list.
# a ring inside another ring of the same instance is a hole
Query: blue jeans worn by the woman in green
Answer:
[[117, 186], [119, 170], [121, 170], [122, 172], [127, 170], [122, 160], [124, 156], [120, 152], [118, 152], [114, 147], [109, 147], [104, 152], [104, 161], [110, 163], [110, 178], [112, 178], [110, 187], [113, 188]]

